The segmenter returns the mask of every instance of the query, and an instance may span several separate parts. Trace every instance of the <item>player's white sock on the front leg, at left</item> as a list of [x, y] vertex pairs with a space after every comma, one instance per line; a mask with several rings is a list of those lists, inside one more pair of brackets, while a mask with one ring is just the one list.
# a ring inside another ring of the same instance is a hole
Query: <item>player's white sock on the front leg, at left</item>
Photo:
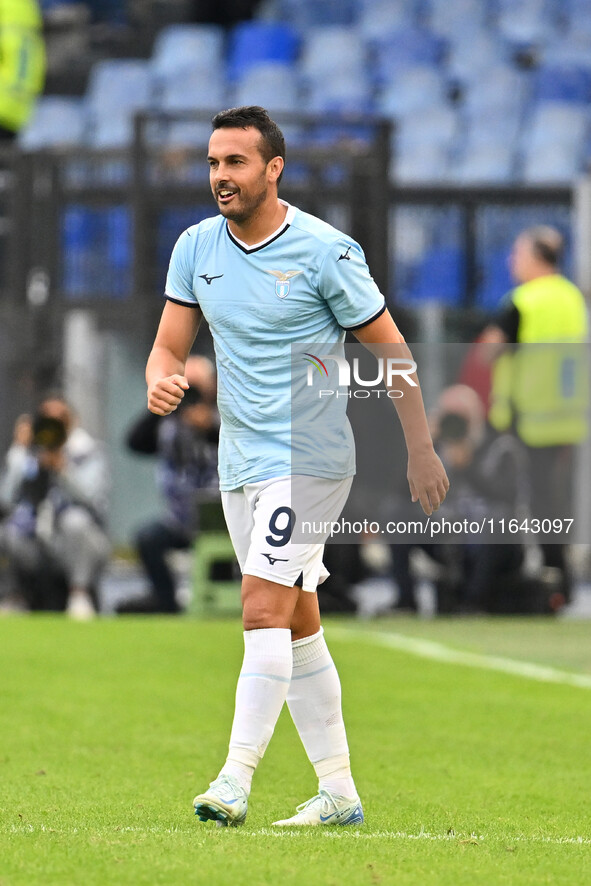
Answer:
[[230, 749], [220, 775], [233, 775], [248, 793], [271, 740], [291, 680], [289, 628], [244, 632]]

